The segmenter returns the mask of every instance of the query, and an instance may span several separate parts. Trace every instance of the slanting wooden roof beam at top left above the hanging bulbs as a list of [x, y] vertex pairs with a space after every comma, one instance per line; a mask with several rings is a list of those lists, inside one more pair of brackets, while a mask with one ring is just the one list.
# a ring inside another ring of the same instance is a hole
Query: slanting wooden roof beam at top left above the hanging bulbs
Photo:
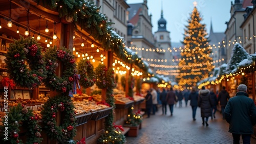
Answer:
[[37, 7], [31, 5], [30, 2], [20, 1], [20, 0], [12, 0], [12, 3], [14, 3], [15, 5], [17, 5], [19, 7], [28, 9], [28, 10], [30, 10], [31, 13], [40, 15], [41, 17], [44, 17], [51, 22], [54, 22], [54, 21], [57, 23], [60, 22], [59, 16], [42, 11], [42, 10], [38, 9]]

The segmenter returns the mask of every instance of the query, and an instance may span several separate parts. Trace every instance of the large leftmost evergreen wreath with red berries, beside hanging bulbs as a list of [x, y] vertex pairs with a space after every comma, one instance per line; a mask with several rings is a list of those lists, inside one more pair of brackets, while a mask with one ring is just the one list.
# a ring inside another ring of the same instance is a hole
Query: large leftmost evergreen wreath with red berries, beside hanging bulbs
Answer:
[[33, 89], [46, 78], [44, 57], [41, 51], [40, 44], [31, 37], [24, 39], [20, 35], [19, 40], [10, 43], [7, 54], [5, 54], [5, 63], [7, 73], [16, 86]]

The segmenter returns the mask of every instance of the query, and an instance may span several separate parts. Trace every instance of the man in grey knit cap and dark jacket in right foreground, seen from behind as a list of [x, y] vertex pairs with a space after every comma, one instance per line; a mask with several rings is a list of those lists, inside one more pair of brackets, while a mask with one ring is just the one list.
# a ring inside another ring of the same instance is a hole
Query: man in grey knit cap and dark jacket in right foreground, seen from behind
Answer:
[[224, 109], [225, 120], [229, 123], [228, 132], [232, 133], [233, 143], [239, 143], [242, 135], [243, 143], [250, 143], [253, 127], [256, 123], [256, 107], [248, 97], [247, 87], [240, 84], [236, 96], [229, 99]]

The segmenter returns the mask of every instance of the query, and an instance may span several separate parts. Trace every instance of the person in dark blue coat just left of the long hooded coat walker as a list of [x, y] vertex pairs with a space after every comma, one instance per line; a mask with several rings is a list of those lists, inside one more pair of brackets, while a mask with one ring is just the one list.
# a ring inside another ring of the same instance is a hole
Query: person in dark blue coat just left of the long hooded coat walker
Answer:
[[192, 108], [192, 117], [193, 121], [196, 121], [196, 112], [197, 112], [197, 101], [198, 101], [198, 92], [196, 91], [196, 88], [193, 87], [191, 90], [191, 93], [188, 96], [188, 100], [190, 100], [190, 105]]

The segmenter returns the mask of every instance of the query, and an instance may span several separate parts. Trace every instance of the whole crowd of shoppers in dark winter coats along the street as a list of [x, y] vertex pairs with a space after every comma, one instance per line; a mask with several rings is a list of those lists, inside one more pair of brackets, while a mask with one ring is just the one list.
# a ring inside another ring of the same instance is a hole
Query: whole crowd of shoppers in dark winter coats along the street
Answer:
[[[236, 96], [230, 98], [226, 87], [218, 93], [214, 89], [207, 90], [202, 87], [197, 91], [195, 87], [188, 91], [174, 91], [170, 89], [155, 90], [151, 88], [145, 95], [146, 113], [150, 118], [150, 114], [155, 114], [157, 105], [162, 105], [162, 115], [167, 113], [167, 104], [169, 106], [170, 116], [173, 116], [174, 105], [178, 102], [179, 107], [182, 107], [182, 100], [187, 106], [190, 101], [192, 109], [193, 121], [196, 121], [197, 107], [201, 110], [202, 125], [209, 126], [208, 119], [216, 119], [215, 113], [217, 106], [221, 106], [222, 119], [229, 123], [229, 132], [232, 133], [233, 143], [240, 143], [242, 136], [243, 143], [250, 143], [251, 134], [253, 134], [253, 126], [256, 124], [256, 107], [251, 98], [248, 97], [247, 87], [245, 84], [240, 84], [237, 88]], [[152, 112], [153, 113], [152, 113]]]

